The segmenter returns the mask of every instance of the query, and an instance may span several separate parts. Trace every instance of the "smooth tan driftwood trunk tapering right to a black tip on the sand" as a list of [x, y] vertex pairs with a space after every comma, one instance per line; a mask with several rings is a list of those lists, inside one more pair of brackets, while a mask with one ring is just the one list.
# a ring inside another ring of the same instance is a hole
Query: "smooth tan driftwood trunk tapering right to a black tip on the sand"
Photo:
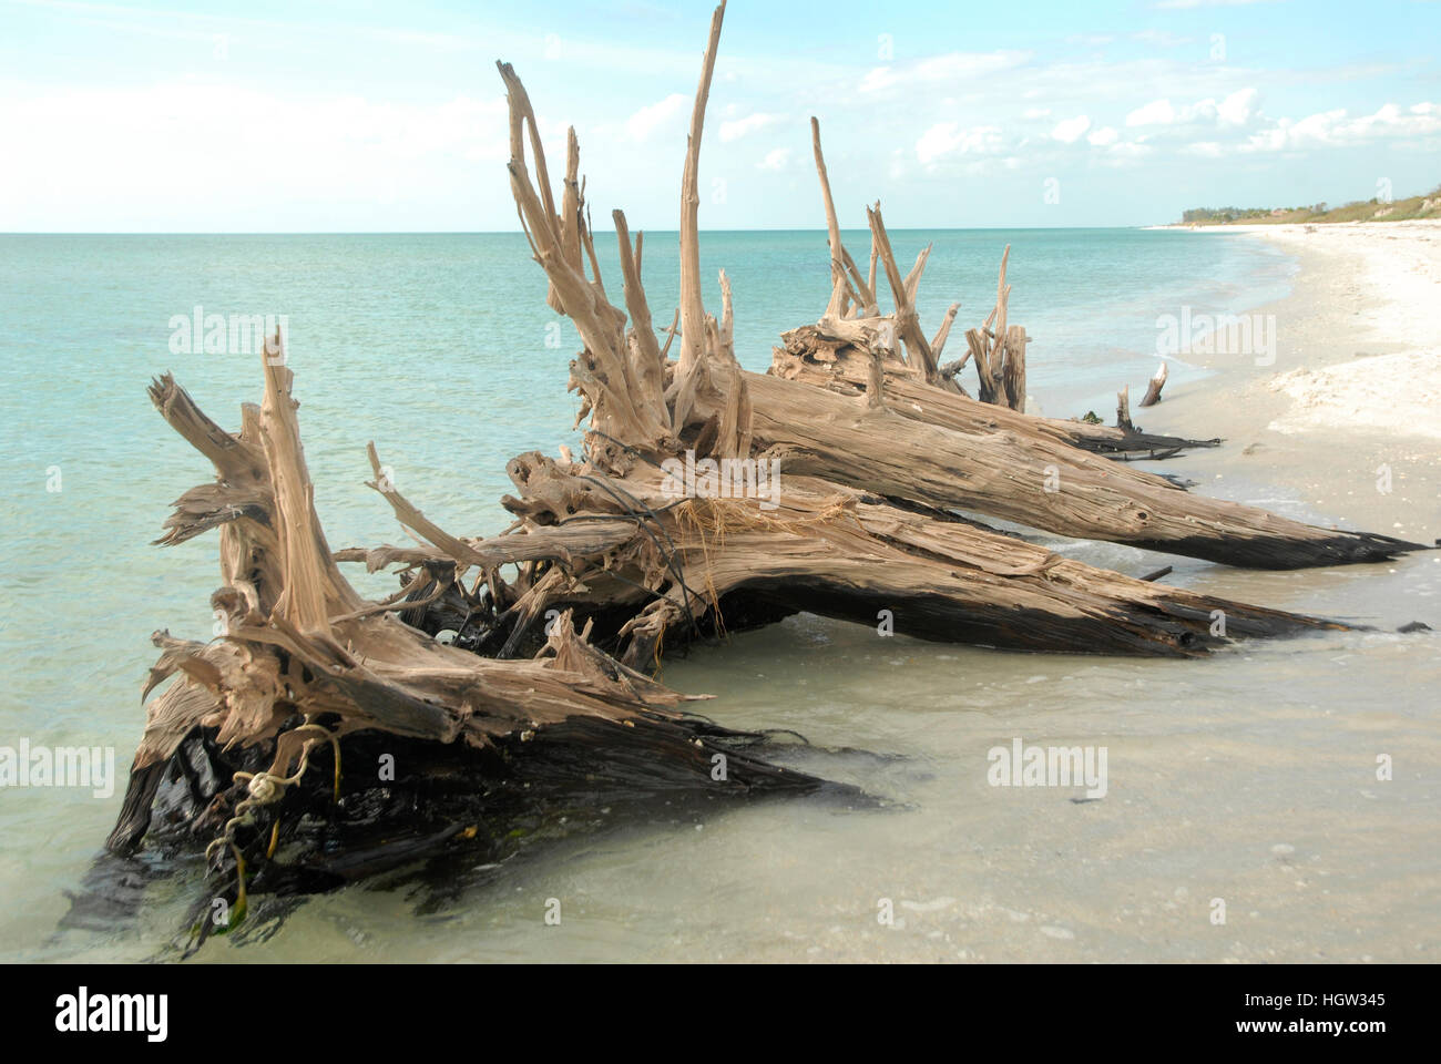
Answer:
[[[748, 386], [757, 454], [891, 499], [1257, 568], [1382, 561], [1424, 549], [1197, 496], [1036, 433], [942, 428], [914, 420], [889, 398], [870, 405], [774, 376], [751, 378]], [[697, 411], [708, 408], [697, 402]]]

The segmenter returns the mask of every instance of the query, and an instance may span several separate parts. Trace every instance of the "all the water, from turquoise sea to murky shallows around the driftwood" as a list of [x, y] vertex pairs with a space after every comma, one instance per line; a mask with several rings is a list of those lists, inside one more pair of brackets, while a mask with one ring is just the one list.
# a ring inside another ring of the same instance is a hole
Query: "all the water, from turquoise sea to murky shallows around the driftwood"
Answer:
[[[928, 324], [957, 297], [963, 322], [984, 316], [976, 309], [994, 298], [1000, 248], [1013, 245], [1012, 319], [1036, 337], [1030, 386], [1052, 414], [1147, 375], [1157, 314], [1183, 303], [1239, 310], [1278, 294], [1290, 270], [1257, 244], [1133, 231], [909, 232], [896, 235], [898, 254], [928, 239]], [[674, 301], [672, 241], [657, 235], [646, 251], [659, 324]], [[824, 304], [824, 235], [703, 244], [706, 268], [725, 265], [735, 281], [742, 360], [762, 369], [775, 333]], [[209, 631], [215, 541], [147, 546], [166, 503], [209, 470], [143, 385], [173, 369], [233, 425], [258, 373], [248, 356], [171, 355], [173, 314], [199, 303], [290, 316], [307, 457], [334, 546], [401, 542], [363, 487], [366, 440], [429, 516], [474, 533], [501, 526], [509, 457], [571, 438], [574, 332], [562, 326], [561, 346], [548, 346], [556, 319], [517, 235], [0, 236], [0, 281], [12, 385], [0, 401], [12, 502], [0, 744], [114, 745], [124, 770], [153, 660], [146, 636]], [[1200, 480], [1222, 463], [1206, 453], [1169, 469]], [[52, 466], [61, 492], [45, 490]], [[1258, 479], [1228, 474], [1223, 492], [1326, 518]], [[1258, 574], [1108, 544], [1065, 549], [1127, 572], [1174, 564], [1173, 582], [1380, 631], [1133, 662], [927, 644], [795, 617], [697, 647], [664, 679], [720, 695], [706, 712], [726, 725], [804, 732], [814, 748], [793, 751], [800, 767], [886, 807], [661, 806], [648, 823], [535, 848], [434, 911], [418, 911], [412, 888], [352, 888], [308, 900], [265, 941], [212, 941], [199, 959], [1434, 959], [1441, 665], [1435, 637], [1389, 631], [1437, 621], [1441, 564]], [[990, 786], [987, 751], [1017, 737], [1105, 747], [1105, 797]], [[1380, 754], [1393, 760], [1391, 781], [1376, 779]], [[184, 879], [151, 888], [135, 921], [58, 928], [65, 891], [79, 888], [118, 804], [118, 794], [0, 790], [0, 956], [146, 957], [177, 930]], [[561, 901], [559, 926], [543, 921], [548, 898]], [[1212, 923], [1215, 898], [1225, 924]], [[891, 926], [878, 923], [882, 900]]]

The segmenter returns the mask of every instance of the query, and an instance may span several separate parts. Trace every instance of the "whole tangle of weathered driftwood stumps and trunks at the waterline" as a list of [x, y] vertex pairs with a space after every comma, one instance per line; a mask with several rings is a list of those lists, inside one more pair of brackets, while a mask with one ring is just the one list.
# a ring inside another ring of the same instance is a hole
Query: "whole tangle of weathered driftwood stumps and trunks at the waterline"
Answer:
[[[719, 316], [706, 313], [699, 275], [699, 148], [723, 10], [682, 179], [676, 360], [676, 323], [661, 346], [647, 306], [643, 238], [633, 244], [614, 212], [623, 309], [601, 278], [574, 131], [556, 196], [525, 88], [497, 65], [512, 192], [545, 298], [584, 343], [571, 386], [585, 422], [579, 458], [562, 448], [559, 460], [509, 463], [516, 495], [501, 503], [514, 523], [503, 533], [440, 528], [395, 490], [372, 444], [370, 486], [416, 544], [331, 552], [284, 355], [267, 356], [264, 402], [242, 409], [233, 434], [169, 376], [151, 385], [170, 425], [215, 467], [215, 483], [177, 500], [159, 542], [218, 531], [220, 629], [206, 643], [154, 636], [160, 659], [144, 693], [169, 686], [148, 704], [114, 851], [134, 851], [159, 813], [156, 832], [210, 842], [212, 872], [244, 911], [246, 885], [324, 890], [471, 843], [499, 852], [494, 825], [474, 817], [523, 806], [517, 780], [563, 777], [594, 797], [585, 783], [601, 776], [641, 799], [824, 789], [762, 760], [764, 735], [689, 712], [693, 696], [646, 672], [664, 646], [800, 610], [879, 621], [882, 634], [1140, 656], [1344, 627], [1097, 569], [957, 510], [1241, 564], [1409, 549], [1190, 496], [1098, 457], [1104, 431], [1022, 412], [1027, 337], [1004, 320], [1004, 274], [1003, 342], [980, 350], [987, 375], [999, 365], [987, 379], [1007, 401], [960, 394], [938, 360], [955, 309], [931, 339], [915, 316], [928, 251], [902, 275], [878, 205], [862, 274], [834, 223], [818, 127], [833, 288], [823, 322], [787, 334], [785, 365], [824, 362], [830, 345], [847, 369], [834, 386], [744, 372], [725, 274]], [[395, 567], [401, 588], [367, 601], [340, 562]], [[386, 755], [405, 761], [403, 780], [378, 786], [372, 766]], [[352, 771], [357, 757], [363, 768]], [[729, 771], [718, 776], [716, 758]]]

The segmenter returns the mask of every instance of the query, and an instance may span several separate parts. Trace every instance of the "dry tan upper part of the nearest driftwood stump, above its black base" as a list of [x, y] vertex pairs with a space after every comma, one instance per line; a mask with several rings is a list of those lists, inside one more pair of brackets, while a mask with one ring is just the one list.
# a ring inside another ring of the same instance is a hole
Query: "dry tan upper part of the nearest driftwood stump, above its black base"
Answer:
[[[265, 401], [245, 408], [238, 435], [206, 418], [171, 378], [151, 386], [166, 420], [216, 467], [215, 484], [180, 497], [160, 542], [220, 528], [215, 608], [223, 634], [205, 644], [156, 637], [163, 655], [146, 693], [179, 672], [189, 682], [182, 686], [205, 688], [212, 704], [187, 704], [177, 714], [153, 705], [138, 763], [169, 757], [200, 724], [218, 727], [220, 742], [271, 738], [297, 709], [336, 714], [333, 734], [378, 727], [486, 745], [527, 722], [666, 717], [684, 701], [648, 680], [604, 678], [574, 631], [558, 629], [550, 660], [490, 662], [399, 623], [393, 614], [403, 600], [362, 600], [336, 567], [314, 513], [290, 384], [290, 369], [267, 359]], [[414, 600], [421, 588], [411, 591]], [[170, 704], [180, 701], [176, 695]], [[288, 768], [274, 766], [277, 774]]]

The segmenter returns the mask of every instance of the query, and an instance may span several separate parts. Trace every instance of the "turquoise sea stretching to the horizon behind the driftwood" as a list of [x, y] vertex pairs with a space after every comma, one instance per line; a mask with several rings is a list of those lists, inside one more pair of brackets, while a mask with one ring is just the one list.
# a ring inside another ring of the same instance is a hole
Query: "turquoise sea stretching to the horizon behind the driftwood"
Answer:
[[[608, 239], [598, 244], [618, 298]], [[1138, 389], [1156, 366], [1157, 316], [1182, 306], [1195, 313], [1258, 306], [1284, 294], [1291, 271], [1290, 260], [1261, 241], [1166, 231], [902, 231], [892, 239], [904, 265], [935, 244], [921, 320], [931, 332], [945, 307], [961, 301], [951, 356], [961, 350], [963, 329], [989, 313], [1001, 249], [1012, 245], [1010, 320], [1033, 337], [1032, 395], [1059, 417], [1094, 408], [1110, 420], [1120, 385]], [[865, 248], [867, 239], [850, 234], [847, 244]], [[702, 248], [706, 275], [725, 268], [733, 283], [741, 362], [764, 371], [778, 333], [814, 322], [824, 307], [824, 232], [710, 232]], [[676, 234], [647, 234], [644, 280], [657, 327], [676, 306]], [[503, 526], [497, 499], [510, 489], [507, 458], [574, 441], [576, 398], [565, 386], [578, 340], [543, 297], [543, 275], [520, 234], [0, 235], [0, 745], [23, 737], [114, 747], [122, 774], [143, 722], [150, 633], [209, 637], [213, 536], [170, 549], [150, 541], [170, 502], [208, 480], [210, 469], [157, 417], [146, 385], [173, 372], [212, 418], [235, 427], [239, 404], [259, 398], [258, 359], [174, 353], [173, 317], [196, 307], [287, 316], [317, 507], [340, 548], [402, 542], [385, 505], [363, 486], [370, 440], [401, 489], [463, 535]], [[715, 288], [708, 303], [719, 306]], [[1197, 373], [1176, 366], [1173, 381]], [[391, 590], [389, 578], [375, 580], [362, 587]], [[808, 621], [798, 624], [787, 623], [790, 637], [810, 640]], [[814, 631], [843, 644], [843, 629]], [[964, 653], [986, 660], [983, 652]], [[726, 693], [719, 663], [697, 676], [696, 689]], [[765, 724], [787, 717], [801, 696], [764, 691], [751, 680], [736, 685], [716, 715]], [[163, 904], [140, 930], [56, 930], [65, 892], [99, 849], [121, 792], [122, 780], [108, 799], [0, 790], [0, 957], [148, 956], [173, 930], [177, 910]], [[624, 851], [608, 874], [643, 868], [650, 856], [667, 866], [682, 859], [683, 849], [657, 854], [667, 838]], [[654, 877], [635, 881], [647, 878]], [[471, 918], [501, 920], [503, 901], [473, 900]], [[334, 959], [379, 959], [365, 943], [403, 941], [412, 920], [399, 900], [365, 892], [317, 900], [311, 913], [320, 923], [305, 930], [305, 917], [297, 917], [291, 949]], [[625, 956], [607, 946], [628, 926], [624, 913], [615, 920], [561, 954]], [[336, 930], [342, 924], [349, 930]], [[669, 934], [650, 940], [654, 956], [684, 953], [667, 953]], [[527, 956], [519, 939], [496, 954], [484, 940], [477, 931], [473, 952], [452, 943], [454, 956]], [[232, 947], [216, 952], [225, 949]], [[254, 947], [245, 956], [284, 954], [275, 949], [281, 953]]]

